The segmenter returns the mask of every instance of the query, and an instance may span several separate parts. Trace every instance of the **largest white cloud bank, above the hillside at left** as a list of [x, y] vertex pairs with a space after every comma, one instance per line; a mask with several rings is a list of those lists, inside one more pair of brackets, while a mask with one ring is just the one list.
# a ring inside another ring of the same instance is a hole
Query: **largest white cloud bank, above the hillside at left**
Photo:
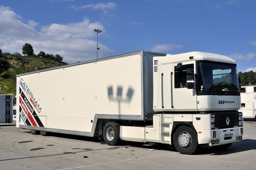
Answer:
[[[0, 49], [3, 52], [22, 52], [22, 46], [30, 43], [34, 52], [45, 51], [51, 54], [60, 54], [64, 61], [75, 63], [78, 61], [96, 58], [96, 34], [94, 29], [104, 33], [104, 26], [99, 22], [91, 22], [85, 18], [81, 22], [69, 24], [50, 24], [42, 26], [40, 31], [33, 27], [36, 21], [23, 23], [8, 7], [0, 6]], [[99, 57], [111, 50], [99, 43]]]

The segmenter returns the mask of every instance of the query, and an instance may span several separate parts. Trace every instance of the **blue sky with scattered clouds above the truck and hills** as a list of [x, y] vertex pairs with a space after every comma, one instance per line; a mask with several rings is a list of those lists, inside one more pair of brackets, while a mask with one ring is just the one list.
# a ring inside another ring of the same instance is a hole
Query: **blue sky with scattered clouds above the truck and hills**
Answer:
[[256, 71], [256, 0], [0, 0], [0, 49], [75, 63], [146, 50], [227, 55]]

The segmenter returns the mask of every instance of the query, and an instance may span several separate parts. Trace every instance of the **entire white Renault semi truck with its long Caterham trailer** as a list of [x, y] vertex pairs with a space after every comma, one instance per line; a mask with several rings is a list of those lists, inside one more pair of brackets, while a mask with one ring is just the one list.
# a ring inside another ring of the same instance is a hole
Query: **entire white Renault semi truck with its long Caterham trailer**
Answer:
[[135, 51], [17, 75], [17, 127], [170, 144], [183, 154], [200, 145], [242, 140], [236, 63], [227, 56]]

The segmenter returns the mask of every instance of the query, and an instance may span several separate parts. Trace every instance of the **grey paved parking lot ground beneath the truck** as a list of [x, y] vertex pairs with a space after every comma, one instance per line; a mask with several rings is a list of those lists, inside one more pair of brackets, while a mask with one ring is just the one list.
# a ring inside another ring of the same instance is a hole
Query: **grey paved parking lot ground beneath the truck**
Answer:
[[256, 170], [256, 122], [245, 122], [243, 140], [229, 149], [182, 155], [168, 145], [100, 144], [91, 137], [32, 135], [0, 124], [1, 170]]

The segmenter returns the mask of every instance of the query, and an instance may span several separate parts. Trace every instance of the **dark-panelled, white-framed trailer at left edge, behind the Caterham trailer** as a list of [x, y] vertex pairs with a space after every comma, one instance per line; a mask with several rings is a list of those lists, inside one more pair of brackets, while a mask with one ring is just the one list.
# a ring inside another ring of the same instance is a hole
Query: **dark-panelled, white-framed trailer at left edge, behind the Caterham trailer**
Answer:
[[0, 123], [13, 122], [13, 95], [0, 95]]

